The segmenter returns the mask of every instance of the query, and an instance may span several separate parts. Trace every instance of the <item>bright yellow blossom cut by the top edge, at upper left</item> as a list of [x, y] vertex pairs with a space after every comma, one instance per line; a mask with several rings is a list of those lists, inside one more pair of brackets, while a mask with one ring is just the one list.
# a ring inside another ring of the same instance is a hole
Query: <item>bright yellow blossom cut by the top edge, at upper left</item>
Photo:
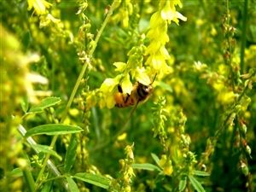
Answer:
[[46, 14], [46, 9], [51, 6], [51, 3], [48, 3], [45, 0], [27, 0], [28, 3], [28, 10], [32, 8], [35, 9], [37, 15], [44, 15]]

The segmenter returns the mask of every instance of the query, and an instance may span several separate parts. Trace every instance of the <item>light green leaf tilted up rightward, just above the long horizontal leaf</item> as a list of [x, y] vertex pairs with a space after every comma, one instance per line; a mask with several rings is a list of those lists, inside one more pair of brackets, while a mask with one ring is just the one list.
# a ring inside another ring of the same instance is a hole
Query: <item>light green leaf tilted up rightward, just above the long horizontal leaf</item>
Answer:
[[54, 106], [59, 102], [61, 102], [60, 97], [50, 96], [50, 97], [44, 98], [38, 105], [32, 106], [32, 108], [30, 108], [29, 110], [29, 113], [41, 113], [44, 111], [45, 108]]

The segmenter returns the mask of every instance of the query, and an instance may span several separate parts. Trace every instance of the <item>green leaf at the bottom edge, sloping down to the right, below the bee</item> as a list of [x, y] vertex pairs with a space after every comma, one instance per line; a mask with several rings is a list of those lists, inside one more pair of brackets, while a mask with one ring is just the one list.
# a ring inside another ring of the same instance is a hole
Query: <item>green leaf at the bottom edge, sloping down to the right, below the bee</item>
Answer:
[[107, 177], [103, 177], [101, 175], [95, 175], [92, 173], [86, 173], [86, 172], [79, 172], [75, 174], [74, 177], [86, 183], [94, 184], [103, 189], [108, 189], [111, 182], [110, 179]]

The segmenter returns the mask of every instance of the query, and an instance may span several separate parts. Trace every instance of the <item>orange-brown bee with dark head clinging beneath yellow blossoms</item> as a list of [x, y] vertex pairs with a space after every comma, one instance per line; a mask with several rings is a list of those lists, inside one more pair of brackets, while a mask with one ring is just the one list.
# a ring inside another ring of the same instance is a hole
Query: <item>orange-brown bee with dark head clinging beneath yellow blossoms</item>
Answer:
[[[155, 79], [155, 76], [154, 76], [154, 79]], [[148, 85], [137, 82], [133, 86], [131, 90], [131, 94], [124, 94], [122, 87], [118, 85], [119, 92], [114, 94], [114, 100], [116, 103], [115, 106], [118, 108], [126, 108], [133, 105], [137, 106], [139, 102], [145, 101], [153, 91], [153, 87], [152, 87], [153, 82]]]

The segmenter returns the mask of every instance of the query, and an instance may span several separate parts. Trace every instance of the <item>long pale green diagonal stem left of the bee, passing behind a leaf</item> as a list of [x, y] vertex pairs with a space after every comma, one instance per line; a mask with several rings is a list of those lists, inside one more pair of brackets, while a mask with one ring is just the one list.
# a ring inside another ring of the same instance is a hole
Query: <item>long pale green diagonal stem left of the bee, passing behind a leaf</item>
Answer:
[[[90, 49], [90, 52], [89, 52], [89, 55], [88, 55], [88, 58], [89, 58], [89, 59], [91, 58], [91, 56], [93, 55], [93, 53], [94, 53], [94, 51], [95, 51], [95, 49], [96, 49], [97, 43], [98, 43], [100, 37], [102, 36], [102, 32], [103, 32], [105, 26], [107, 25], [110, 16], [113, 14], [113, 9], [115, 8], [115, 4], [116, 4], [116, 3], [117, 3], [117, 0], [113, 0], [113, 3], [112, 3], [112, 5], [111, 5], [111, 7], [110, 7], [110, 9], [109, 9], [109, 11], [108, 11], [108, 15], [106, 16], [104, 22], [102, 23], [102, 26], [101, 26], [99, 32], [98, 32], [97, 35], [96, 35], [95, 42], [94, 42], [92, 48]], [[69, 108], [71, 107], [71, 104], [72, 104], [72, 102], [73, 102], [73, 98], [74, 98], [74, 96], [76, 95], [77, 90], [79, 89], [79, 84], [81, 83], [81, 80], [82, 80], [83, 77], [84, 77], [84, 73], [85, 73], [86, 68], [88, 67], [89, 63], [90, 63], [89, 60], [84, 62], [84, 66], [82, 67], [82, 70], [81, 70], [81, 72], [79, 73], [79, 78], [77, 79], [77, 82], [76, 82], [76, 84], [75, 84], [75, 86], [74, 86], [74, 88], [73, 88], [73, 91], [72, 91], [72, 93], [71, 93], [71, 96], [69, 97], [69, 100], [68, 100], [68, 102], [67, 102], [67, 106], [66, 106], [66, 108], [65, 108], [65, 112], [63, 113], [63, 115], [62, 115], [62, 117], [61, 117], [61, 123], [63, 123], [63, 121], [64, 121], [64, 120], [66, 119], [66, 117], [67, 117], [68, 110], [69, 110]], [[50, 143], [50, 146], [49, 146], [50, 148], [53, 148], [53, 147], [55, 146], [55, 143], [56, 143], [56, 141], [57, 141], [57, 138], [58, 138], [57, 135], [55, 135], [55, 136], [53, 137], [53, 139], [52, 139], [52, 141], [51, 141], [51, 143]], [[38, 173], [38, 178], [37, 178], [37, 180], [36, 180], [36, 183], [38, 183], [39, 180], [40, 180], [40, 178], [42, 177], [42, 175], [43, 175], [43, 173], [44, 173], [44, 169], [45, 169], [45, 167], [46, 167], [46, 165], [47, 165], [47, 161], [49, 160], [49, 157], [50, 157], [50, 154], [46, 154], [45, 159], [44, 159], [43, 166], [42, 166], [40, 172]]]

